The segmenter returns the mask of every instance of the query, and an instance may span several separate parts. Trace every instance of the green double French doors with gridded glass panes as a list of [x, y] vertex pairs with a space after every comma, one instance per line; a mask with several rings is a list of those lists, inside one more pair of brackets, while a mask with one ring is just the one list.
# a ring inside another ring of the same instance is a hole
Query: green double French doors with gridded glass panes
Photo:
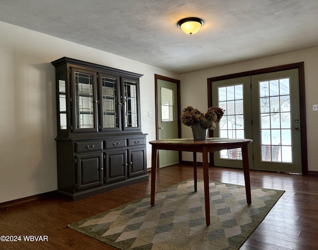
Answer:
[[[298, 69], [212, 82], [226, 110], [214, 137], [248, 138], [251, 169], [302, 172]], [[240, 149], [214, 153], [215, 166], [241, 167]]]

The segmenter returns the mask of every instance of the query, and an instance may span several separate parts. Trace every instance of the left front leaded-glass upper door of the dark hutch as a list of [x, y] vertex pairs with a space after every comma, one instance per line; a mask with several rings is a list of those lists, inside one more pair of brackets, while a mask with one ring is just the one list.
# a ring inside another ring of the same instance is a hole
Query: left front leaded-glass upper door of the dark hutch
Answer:
[[73, 130], [97, 131], [97, 98], [94, 72], [72, 69]]

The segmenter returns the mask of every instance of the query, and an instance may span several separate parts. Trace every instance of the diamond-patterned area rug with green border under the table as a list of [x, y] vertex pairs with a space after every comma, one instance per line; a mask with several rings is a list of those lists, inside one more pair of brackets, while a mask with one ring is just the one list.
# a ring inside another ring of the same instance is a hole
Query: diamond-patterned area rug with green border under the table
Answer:
[[[120, 207], [68, 225], [120, 250], [237, 250], [284, 193], [210, 182], [211, 225], [205, 223], [203, 181], [187, 180]], [[118, 197], [120, 199], [120, 197]]]

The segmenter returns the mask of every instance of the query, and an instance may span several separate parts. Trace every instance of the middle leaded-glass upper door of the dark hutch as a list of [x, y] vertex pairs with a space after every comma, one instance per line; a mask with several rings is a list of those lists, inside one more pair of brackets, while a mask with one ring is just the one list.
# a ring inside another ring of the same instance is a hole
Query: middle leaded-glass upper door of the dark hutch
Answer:
[[101, 129], [121, 129], [121, 102], [119, 94], [119, 77], [99, 75], [101, 89]]

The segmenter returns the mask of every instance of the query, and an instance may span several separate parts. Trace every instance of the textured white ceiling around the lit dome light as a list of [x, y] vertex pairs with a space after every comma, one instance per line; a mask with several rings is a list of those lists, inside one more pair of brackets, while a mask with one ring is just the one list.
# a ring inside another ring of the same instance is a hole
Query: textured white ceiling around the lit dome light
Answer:
[[0, 21], [175, 73], [318, 46], [318, 0], [0, 0]]

